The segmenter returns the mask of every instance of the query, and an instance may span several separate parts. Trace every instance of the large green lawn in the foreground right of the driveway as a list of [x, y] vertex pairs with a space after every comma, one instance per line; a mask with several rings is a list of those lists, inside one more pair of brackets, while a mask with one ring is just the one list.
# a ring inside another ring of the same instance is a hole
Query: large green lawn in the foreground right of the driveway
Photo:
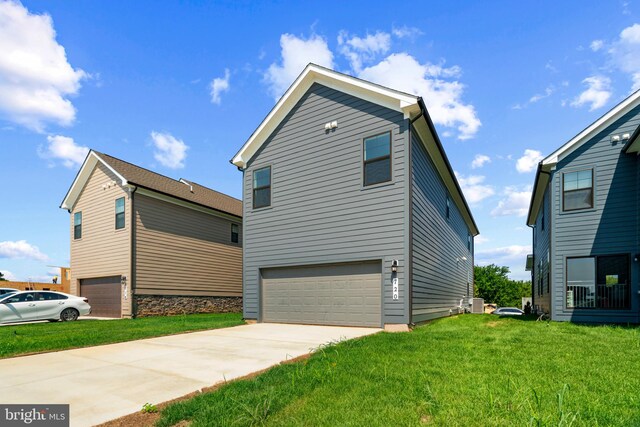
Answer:
[[230, 382], [169, 405], [158, 425], [183, 420], [192, 427], [638, 426], [640, 329], [446, 318]]

